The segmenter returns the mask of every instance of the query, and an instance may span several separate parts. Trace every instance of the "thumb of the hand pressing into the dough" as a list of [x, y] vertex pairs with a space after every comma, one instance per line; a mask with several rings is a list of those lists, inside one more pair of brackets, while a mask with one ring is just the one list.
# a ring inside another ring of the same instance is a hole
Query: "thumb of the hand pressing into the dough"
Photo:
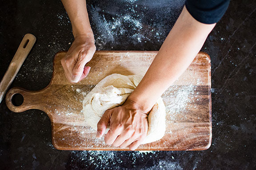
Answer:
[[106, 110], [104, 112], [103, 116], [101, 117], [100, 121], [97, 124], [96, 138], [100, 138], [101, 136], [103, 136], [108, 126], [111, 115], [112, 115], [112, 112], [110, 110]]

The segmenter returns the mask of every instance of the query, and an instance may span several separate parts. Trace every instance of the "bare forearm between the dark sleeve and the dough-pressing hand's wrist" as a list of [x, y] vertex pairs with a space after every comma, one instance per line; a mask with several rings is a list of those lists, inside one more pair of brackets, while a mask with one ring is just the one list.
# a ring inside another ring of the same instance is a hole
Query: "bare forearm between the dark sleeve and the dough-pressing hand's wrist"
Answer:
[[150, 111], [156, 100], [188, 68], [214, 26], [196, 21], [184, 8], [128, 100], [135, 101], [145, 112]]

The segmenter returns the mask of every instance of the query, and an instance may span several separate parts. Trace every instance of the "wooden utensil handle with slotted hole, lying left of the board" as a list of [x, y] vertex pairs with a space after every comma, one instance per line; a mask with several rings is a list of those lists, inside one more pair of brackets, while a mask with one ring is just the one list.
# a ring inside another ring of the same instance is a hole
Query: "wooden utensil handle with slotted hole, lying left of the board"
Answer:
[[20, 42], [20, 46], [12, 58], [12, 62], [0, 82], [0, 103], [35, 42], [36, 37], [32, 34], [26, 34]]

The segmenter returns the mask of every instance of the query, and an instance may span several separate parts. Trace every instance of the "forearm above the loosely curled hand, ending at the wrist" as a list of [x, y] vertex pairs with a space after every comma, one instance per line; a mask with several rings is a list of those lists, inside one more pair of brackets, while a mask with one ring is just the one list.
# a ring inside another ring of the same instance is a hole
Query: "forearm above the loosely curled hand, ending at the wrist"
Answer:
[[73, 35], [93, 36], [86, 0], [61, 0], [72, 24]]

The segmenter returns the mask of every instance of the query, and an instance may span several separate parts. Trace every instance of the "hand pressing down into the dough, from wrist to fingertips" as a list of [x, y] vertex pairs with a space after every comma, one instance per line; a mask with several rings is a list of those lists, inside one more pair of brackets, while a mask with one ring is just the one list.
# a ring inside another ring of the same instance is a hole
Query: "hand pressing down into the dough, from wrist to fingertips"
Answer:
[[108, 126], [105, 143], [114, 147], [129, 147], [134, 151], [145, 139], [148, 132], [148, 112], [132, 100], [123, 105], [106, 110], [97, 124], [97, 135], [101, 137]]

